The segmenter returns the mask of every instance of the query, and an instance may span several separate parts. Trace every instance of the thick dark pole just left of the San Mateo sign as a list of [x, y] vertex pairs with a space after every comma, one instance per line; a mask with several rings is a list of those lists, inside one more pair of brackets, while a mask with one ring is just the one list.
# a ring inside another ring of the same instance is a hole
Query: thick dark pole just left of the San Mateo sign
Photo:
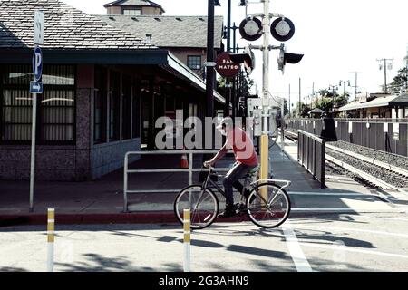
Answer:
[[209, 0], [209, 12], [207, 23], [207, 117], [214, 116], [214, 0]]

